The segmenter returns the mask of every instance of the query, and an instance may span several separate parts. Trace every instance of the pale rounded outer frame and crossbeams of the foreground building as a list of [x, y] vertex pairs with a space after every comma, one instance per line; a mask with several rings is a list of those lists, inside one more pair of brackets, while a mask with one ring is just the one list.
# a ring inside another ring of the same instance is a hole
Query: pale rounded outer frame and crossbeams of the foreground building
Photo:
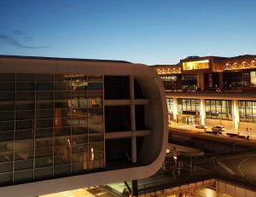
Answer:
[[[28, 183], [15, 183], [15, 177], [13, 177], [13, 182], [6, 183], [7, 186], [3, 185], [3, 187], [0, 188], [0, 194], [3, 196], [38, 196], [41, 194], [50, 194], [74, 188], [83, 188], [106, 183], [141, 179], [153, 175], [163, 164], [166, 156], [168, 135], [166, 122], [166, 94], [163, 84], [160, 81], [160, 77], [151, 67], [141, 64], [132, 64], [124, 61], [90, 61], [76, 59], [0, 56], [0, 73], [11, 73], [15, 74], [15, 76], [17, 76], [16, 74], [19, 73], [32, 73], [54, 75], [101, 75], [103, 78], [105, 76], [125, 76], [129, 78], [130, 97], [128, 99], [105, 99], [103, 100], [103, 106], [105, 108], [108, 106], [130, 107], [131, 130], [119, 130], [119, 132], [111, 132], [109, 130], [108, 132], [105, 132], [104, 130], [103, 136], [104, 153], [106, 153], [105, 142], [107, 140], [131, 138], [131, 160], [134, 163], [134, 165], [125, 166], [125, 168], [119, 166], [116, 168], [118, 170], [115, 170], [114, 168], [109, 170], [106, 167], [108, 166], [108, 164], [106, 164], [106, 160], [108, 160], [108, 158], [106, 158], [107, 156], [104, 154], [103, 160], [105, 164], [98, 172], [86, 171], [83, 173], [83, 171], [80, 171], [79, 175], [71, 173], [62, 177], [55, 177], [53, 174], [52, 177], [45, 177], [44, 181], [42, 181], [40, 178], [27, 179], [26, 182]], [[134, 96], [135, 81], [142, 90], [143, 98], [137, 98]], [[106, 85], [108, 84], [103, 83], [103, 86]], [[15, 90], [17, 90], [17, 88], [15, 88]], [[116, 94], [119, 94], [119, 92], [116, 92]], [[136, 128], [137, 111], [135, 110], [135, 107], [138, 105], [143, 106], [143, 124], [145, 125], [144, 130], [137, 130]], [[106, 116], [106, 114], [103, 115]], [[17, 131], [14, 132], [17, 133]], [[138, 136], [143, 136], [143, 144], [137, 151], [136, 138]], [[54, 137], [55, 136], [53, 136], [53, 138]], [[34, 140], [36, 141], [37, 139], [35, 138]], [[55, 155], [52, 157], [54, 158], [54, 156]], [[12, 163], [15, 165], [15, 162], [16, 161], [14, 159]], [[34, 168], [35, 165], [33, 165], [32, 168], [33, 176], [35, 174]]]

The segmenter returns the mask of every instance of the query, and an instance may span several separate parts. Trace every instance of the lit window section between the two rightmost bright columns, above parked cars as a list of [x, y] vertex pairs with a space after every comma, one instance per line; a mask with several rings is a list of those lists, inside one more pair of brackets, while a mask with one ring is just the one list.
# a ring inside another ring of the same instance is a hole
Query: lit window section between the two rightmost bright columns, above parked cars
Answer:
[[207, 119], [232, 120], [232, 101], [207, 99], [206, 117]]

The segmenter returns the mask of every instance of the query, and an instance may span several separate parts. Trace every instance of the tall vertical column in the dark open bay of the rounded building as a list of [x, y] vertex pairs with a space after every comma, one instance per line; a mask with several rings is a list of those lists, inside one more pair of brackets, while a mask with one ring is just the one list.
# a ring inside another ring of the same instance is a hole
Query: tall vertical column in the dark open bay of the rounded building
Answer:
[[136, 142], [136, 118], [134, 105], [134, 76], [129, 76], [130, 89], [130, 119], [131, 119], [131, 161], [137, 162], [137, 142]]

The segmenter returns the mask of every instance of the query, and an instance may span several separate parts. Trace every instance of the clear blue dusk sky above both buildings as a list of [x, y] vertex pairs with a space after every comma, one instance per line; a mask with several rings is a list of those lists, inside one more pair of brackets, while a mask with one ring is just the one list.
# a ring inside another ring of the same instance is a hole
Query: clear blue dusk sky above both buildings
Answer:
[[0, 0], [0, 55], [176, 64], [256, 55], [255, 0]]

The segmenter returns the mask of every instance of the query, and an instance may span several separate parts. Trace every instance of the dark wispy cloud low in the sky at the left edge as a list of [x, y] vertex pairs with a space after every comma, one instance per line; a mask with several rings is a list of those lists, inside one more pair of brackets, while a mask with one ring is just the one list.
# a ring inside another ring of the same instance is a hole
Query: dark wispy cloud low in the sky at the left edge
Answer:
[[0, 32], [0, 43], [6, 43], [20, 49], [44, 49], [49, 46], [36, 46], [27, 44], [32, 41], [32, 37], [27, 36], [22, 30], [13, 30], [9, 33]]

